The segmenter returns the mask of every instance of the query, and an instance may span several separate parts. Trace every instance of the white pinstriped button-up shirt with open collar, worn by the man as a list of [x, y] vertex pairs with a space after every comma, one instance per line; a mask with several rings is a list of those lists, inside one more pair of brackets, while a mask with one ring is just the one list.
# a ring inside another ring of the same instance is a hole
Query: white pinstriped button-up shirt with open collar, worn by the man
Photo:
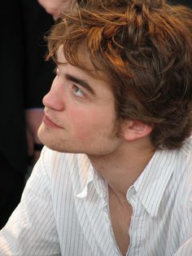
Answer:
[[[192, 143], [156, 151], [129, 188], [127, 255], [192, 255]], [[83, 154], [44, 148], [20, 205], [0, 232], [0, 255], [115, 256], [107, 183]]]

